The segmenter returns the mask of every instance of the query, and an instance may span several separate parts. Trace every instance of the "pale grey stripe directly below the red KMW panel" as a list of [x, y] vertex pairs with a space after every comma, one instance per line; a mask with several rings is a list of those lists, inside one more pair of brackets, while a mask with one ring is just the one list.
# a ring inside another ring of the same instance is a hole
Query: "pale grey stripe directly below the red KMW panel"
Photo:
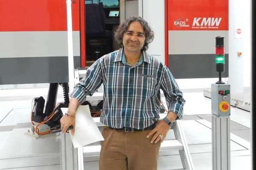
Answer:
[[215, 54], [215, 37], [225, 37], [225, 53], [228, 52], [229, 31], [168, 31], [168, 53]]

